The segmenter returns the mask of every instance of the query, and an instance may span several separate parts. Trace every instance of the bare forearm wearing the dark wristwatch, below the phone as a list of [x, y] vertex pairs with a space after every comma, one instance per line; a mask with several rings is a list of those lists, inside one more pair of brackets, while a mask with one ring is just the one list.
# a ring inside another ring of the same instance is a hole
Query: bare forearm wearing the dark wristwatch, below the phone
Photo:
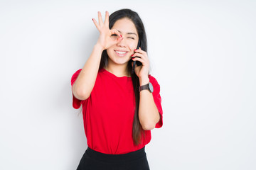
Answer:
[[[141, 79], [140, 86], [149, 83], [149, 78]], [[148, 90], [139, 92], [139, 122], [144, 130], [151, 130], [155, 128], [156, 123], [159, 122], [160, 115], [154, 103], [154, 98]]]

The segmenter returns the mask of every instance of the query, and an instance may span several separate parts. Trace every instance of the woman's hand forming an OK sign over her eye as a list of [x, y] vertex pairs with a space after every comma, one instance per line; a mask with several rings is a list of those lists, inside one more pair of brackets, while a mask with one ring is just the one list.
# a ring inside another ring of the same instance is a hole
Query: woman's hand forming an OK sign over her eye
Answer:
[[[122, 40], [122, 35], [115, 29], [110, 30], [109, 28], [109, 13], [106, 11], [105, 15], [105, 22], [102, 21], [102, 16], [100, 11], [98, 11], [98, 18], [99, 23], [95, 20], [95, 18], [92, 18], [93, 23], [95, 23], [95, 26], [97, 30], [100, 32], [100, 37], [97, 40], [97, 44], [101, 45], [103, 47], [103, 50], [106, 50], [107, 48], [111, 47], [114, 44], [117, 44], [120, 40]], [[117, 35], [118, 38], [113, 38], [112, 35]]]

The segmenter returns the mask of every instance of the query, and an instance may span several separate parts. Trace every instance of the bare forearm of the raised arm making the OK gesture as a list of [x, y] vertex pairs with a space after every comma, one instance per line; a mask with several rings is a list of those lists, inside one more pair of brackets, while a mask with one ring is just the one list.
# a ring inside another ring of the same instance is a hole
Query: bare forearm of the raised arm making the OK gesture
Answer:
[[102, 51], [103, 48], [100, 45], [96, 44], [93, 47], [90, 57], [73, 84], [73, 94], [76, 98], [85, 100], [90, 96], [100, 67]]

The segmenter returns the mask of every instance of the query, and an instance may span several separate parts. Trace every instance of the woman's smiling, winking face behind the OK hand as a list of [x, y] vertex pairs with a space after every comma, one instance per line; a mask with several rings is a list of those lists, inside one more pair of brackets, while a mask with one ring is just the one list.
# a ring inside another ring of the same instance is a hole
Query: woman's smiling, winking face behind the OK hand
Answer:
[[[109, 62], [127, 64], [131, 60], [131, 56], [134, 54], [139, 42], [137, 29], [128, 18], [117, 20], [111, 29], [118, 30], [124, 39], [107, 49], [107, 55], [110, 57]], [[117, 35], [112, 35], [112, 37], [115, 38]]]

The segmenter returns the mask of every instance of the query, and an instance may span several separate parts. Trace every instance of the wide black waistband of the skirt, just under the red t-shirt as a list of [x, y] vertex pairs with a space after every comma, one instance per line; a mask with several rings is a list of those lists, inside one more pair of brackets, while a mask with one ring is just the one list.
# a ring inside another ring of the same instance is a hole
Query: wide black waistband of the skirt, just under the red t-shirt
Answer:
[[97, 159], [102, 162], [127, 162], [142, 158], [146, 155], [145, 147], [134, 152], [129, 152], [127, 154], [103, 154], [101, 152], [90, 149], [90, 147], [88, 147], [85, 152], [92, 159]]

